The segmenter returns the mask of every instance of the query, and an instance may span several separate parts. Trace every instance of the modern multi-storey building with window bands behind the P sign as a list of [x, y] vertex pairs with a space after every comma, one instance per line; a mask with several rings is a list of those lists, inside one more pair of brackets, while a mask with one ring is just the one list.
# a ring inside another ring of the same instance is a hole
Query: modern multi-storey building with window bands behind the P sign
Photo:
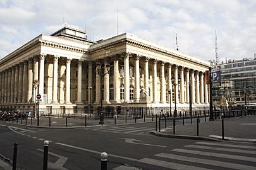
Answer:
[[224, 96], [231, 106], [256, 104], [256, 54], [216, 65], [216, 70], [221, 71], [221, 82], [213, 84], [214, 100]]

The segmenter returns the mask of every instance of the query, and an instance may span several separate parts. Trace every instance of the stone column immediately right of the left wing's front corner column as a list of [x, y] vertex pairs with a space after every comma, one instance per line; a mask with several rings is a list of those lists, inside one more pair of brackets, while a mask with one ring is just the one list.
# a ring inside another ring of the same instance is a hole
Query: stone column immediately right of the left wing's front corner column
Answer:
[[58, 103], [58, 60], [59, 56], [54, 55], [53, 59], [53, 95], [52, 103]]

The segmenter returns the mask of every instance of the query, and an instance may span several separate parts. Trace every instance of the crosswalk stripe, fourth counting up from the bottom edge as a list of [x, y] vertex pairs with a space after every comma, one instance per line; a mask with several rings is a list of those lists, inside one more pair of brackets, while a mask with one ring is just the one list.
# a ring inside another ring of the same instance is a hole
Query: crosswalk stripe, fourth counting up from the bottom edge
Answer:
[[207, 147], [207, 146], [200, 146], [200, 145], [185, 145], [185, 147], [193, 147], [197, 149], [221, 150], [221, 151], [227, 151], [227, 152], [238, 152], [238, 153], [244, 153], [244, 154], [256, 154], [256, 151], [253, 151], [253, 150], [228, 149], [224, 147]]

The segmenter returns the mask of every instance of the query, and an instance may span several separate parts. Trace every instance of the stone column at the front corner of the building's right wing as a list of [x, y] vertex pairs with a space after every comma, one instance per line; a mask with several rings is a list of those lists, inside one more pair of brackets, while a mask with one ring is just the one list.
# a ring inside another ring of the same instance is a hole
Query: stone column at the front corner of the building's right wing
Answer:
[[129, 103], [130, 101], [130, 75], [129, 75], [129, 57], [130, 54], [126, 53], [124, 56], [124, 70], [125, 70], [125, 103]]

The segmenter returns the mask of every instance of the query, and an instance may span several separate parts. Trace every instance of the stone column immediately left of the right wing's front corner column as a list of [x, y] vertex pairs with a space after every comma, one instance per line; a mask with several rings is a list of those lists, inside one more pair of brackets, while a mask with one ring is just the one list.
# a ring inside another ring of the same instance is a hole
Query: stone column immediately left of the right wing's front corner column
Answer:
[[120, 103], [120, 82], [118, 55], [114, 56], [114, 103]]

